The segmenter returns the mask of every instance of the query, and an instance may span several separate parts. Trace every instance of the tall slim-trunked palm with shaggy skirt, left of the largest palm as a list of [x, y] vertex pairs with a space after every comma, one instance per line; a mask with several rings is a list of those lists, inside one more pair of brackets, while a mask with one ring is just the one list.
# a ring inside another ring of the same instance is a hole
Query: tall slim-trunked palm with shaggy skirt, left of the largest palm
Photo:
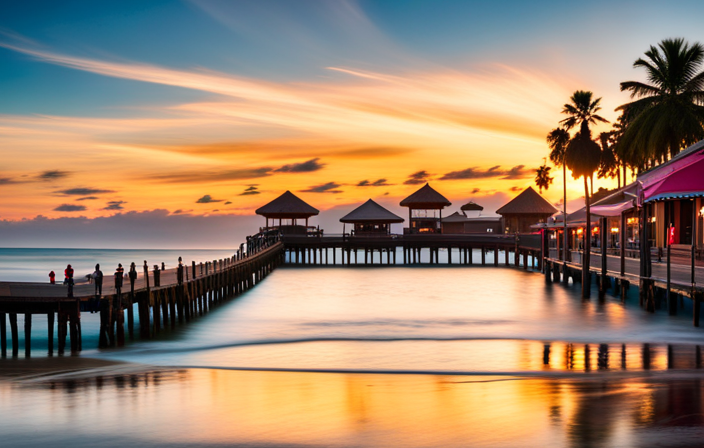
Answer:
[[565, 152], [565, 164], [572, 171], [572, 177], [584, 178], [584, 202], [587, 208], [586, 233], [584, 235], [584, 256], [582, 257], [582, 297], [588, 298], [590, 295], [589, 266], [591, 252], [591, 213], [589, 200], [589, 184], [587, 178], [591, 178], [599, 168], [601, 161], [601, 148], [592, 140], [590, 124], [597, 121], [608, 123], [608, 121], [596, 113], [601, 109], [599, 102], [601, 98], [592, 100], [592, 92], [584, 90], [576, 91], [570, 100], [571, 104], [565, 104], [562, 109], [563, 114], [568, 117], [561, 121], [566, 128], [570, 129], [579, 124], [579, 132], [570, 140]]

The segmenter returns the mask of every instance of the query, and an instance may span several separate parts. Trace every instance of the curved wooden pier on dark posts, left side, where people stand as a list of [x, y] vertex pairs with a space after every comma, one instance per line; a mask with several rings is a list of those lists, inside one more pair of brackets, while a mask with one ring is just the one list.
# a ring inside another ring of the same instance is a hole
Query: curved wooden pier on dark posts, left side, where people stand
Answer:
[[[31, 356], [32, 316], [47, 316], [48, 354], [54, 354], [54, 325], [58, 325], [57, 351], [63, 355], [66, 340], [70, 352], [83, 347], [81, 312], [100, 313], [99, 347], [122, 346], [125, 334], [134, 337], [134, 304], [137, 304], [139, 335], [148, 339], [165, 328], [189, 322], [207, 313], [226, 299], [236, 297], [264, 279], [283, 263], [283, 243], [275, 238], [252, 239], [247, 252], [239, 251], [227, 259], [191, 265], [179, 265], [169, 271], [144, 273], [118, 294], [105, 276], [102, 297], [96, 299], [93, 285], [77, 285], [73, 297], [67, 297], [63, 285], [39, 283], [0, 284], [0, 354], [8, 355], [7, 322], [10, 323], [11, 355], [19, 355], [17, 315], [24, 315], [24, 353]], [[127, 328], [125, 329], [125, 311]]]

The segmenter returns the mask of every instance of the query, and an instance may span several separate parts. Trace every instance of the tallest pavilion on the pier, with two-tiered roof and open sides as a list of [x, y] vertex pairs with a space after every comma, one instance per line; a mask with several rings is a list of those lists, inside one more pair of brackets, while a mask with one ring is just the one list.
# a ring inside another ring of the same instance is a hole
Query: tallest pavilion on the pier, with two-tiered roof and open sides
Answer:
[[442, 233], [442, 209], [452, 205], [450, 201], [429, 184], [401, 201], [408, 207], [408, 227], [403, 233]]

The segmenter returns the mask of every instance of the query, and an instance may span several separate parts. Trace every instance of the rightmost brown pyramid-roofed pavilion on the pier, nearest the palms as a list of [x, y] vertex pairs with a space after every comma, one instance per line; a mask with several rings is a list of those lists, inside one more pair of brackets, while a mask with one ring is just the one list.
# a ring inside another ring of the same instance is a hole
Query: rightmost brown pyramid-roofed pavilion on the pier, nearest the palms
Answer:
[[528, 187], [506, 205], [496, 210], [504, 219], [506, 233], [531, 233], [530, 226], [555, 214], [557, 209], [540, 196], [533, 187]]

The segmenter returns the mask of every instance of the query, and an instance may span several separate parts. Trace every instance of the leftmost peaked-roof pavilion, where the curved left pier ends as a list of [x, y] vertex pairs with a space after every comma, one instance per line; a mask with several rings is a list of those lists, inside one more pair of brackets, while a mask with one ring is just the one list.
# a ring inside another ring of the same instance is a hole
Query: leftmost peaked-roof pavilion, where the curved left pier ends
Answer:
[[[295, 194], [286, 191], [278, 198], [258, 208], [256, 213], [266, 218], [266, 227], [262, 230], [278, 230], [283, 235], [305, 235], [308, 233], [308, 218], [320, 212]], [[272, 220], [271, 226], [269, 226], [270, 219]], [[278, 220], [278, 225], [276, 225], [276, 220]], [[305, 220], [305, 226], [299, 225], [299, 220]]]

